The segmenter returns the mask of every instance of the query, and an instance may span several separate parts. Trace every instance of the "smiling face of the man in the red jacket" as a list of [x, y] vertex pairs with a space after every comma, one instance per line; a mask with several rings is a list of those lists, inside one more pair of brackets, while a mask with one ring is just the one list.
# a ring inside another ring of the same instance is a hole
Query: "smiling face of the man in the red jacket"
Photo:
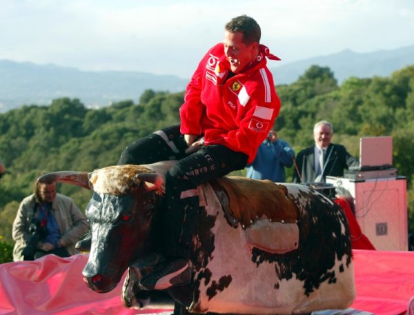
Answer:
[[230, 69], [234, 73], [242, 72], [250, 63], [255, 61], [259, 44], [253, 42], [244, 43], [242, 32], [224, 32], [224, 53], [230, 63]]

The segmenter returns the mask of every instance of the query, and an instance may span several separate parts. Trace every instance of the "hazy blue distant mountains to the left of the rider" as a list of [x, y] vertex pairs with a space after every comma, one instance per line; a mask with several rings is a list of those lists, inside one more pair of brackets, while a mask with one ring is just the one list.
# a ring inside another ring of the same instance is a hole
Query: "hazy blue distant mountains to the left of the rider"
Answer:
[[128, 71], [81, 71], [58, 65], [37, 65], [0, 60], [0, 112], [26, 105], [48, 105], [52, 99], [68, 96], [88, 107], [115, 101], [138, 101], [142, 92], [180, 92], [187, 79]]

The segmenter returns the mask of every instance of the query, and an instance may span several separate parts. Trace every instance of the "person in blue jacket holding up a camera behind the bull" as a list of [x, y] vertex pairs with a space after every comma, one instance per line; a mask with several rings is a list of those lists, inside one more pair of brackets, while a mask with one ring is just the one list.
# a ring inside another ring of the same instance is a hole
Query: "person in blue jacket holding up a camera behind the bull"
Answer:
[[249, 179], [269, 179], [276, 183], [286, 182], [284, 167], [292, 167], [295, 151], [286, 141], [277, 139], [277, 133], [270, 130], [259, 146], [255, 161], [248, 164]]

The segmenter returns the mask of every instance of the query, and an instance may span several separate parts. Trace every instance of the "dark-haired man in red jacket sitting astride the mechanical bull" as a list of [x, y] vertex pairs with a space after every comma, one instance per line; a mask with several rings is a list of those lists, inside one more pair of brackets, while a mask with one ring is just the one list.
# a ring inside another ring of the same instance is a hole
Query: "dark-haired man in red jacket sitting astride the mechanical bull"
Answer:
[[[118, 161], [149, 164], [179, 160], [166, 174], [165, 239], [147, 289], [166, 289], [190, 281], [188, 246], [197, 222], [197, 187], [242, 170], [255, 158], [280, 109], [261, 30], [246, 15], [225, 26], [224, 41], [208, 50], [188, 83], [180, 108], [181, 125], [157, 131], [126, 148]], [[172, 281], [173, 279], [173, 281]]]

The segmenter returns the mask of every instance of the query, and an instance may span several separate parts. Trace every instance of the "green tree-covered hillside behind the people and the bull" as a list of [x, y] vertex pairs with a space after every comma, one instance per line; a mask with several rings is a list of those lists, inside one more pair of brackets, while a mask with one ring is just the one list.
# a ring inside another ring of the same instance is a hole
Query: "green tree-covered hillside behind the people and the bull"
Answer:
[[[360, 136], [392, 135], [398, 173], [408, 181], [408, 217], [414, 232], [414, 65], [390, 77], [350, 78], [341, 86], [333, 72], [313, 65], [290, 85], [277, 85], [282, 109], [275, 129], [296, 152], [313, 144], [313, 125], [334, 125], [333, 142], [353, 155]], [[8, 241], [21, 200], [37, 176], [57, 170], [92, 172], [114, 165], [129, 143], [179, 123], [184, 92], [146, 90], [131, 100], [87, 109], [79, 99], [56, 99], [50, 106], [24, 105], [0, 114], [0, 156], [8, 174], [0, 180], [0, 236]], [[291, 172], [288, 170], [288, 178]], [[237, 174], [244, 176], [244, 170]], [[73, 185], [58, 190], [84, 210], [91, 192]]]

